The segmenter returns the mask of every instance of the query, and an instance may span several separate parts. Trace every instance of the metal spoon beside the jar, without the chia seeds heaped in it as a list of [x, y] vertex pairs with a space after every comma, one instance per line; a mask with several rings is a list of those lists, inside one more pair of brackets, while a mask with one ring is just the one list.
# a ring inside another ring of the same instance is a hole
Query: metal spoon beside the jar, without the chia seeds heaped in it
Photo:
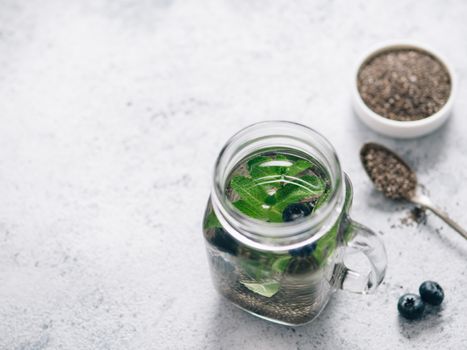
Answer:
[[[409, 201], [409, 202], [411, 202], [413, 204], [418, 204], [422, 208], [431, 210], [434, 214], [436, 214], [438, 217], [443, 219], [445, 223], [447, 223], [455, 231], [457, 231], [460, 235], [462, 235], [462, 237], [467, 239], [467, 231], [465, 229], [463, 229], [458, 223], [456, 223], [454, 220], [452, 220], [448, 216], [448, 214], [446, 212], [444, 212], [441, 209], [435, 207], [435, 205], [430, 200], [430, 198], [428, 198], [424, 194], [420, 193], [420, 191], [418, 191], [417, 180], [416, 180], [417, 178], [416, 178], [415, 172], [412, 170], [412, 168], [410, 168], [410, 166], [407, 165], [407, 163], [404, 160], [402, 160], [393, 151], [391, 151], [391, 150], [387, 149], [386, 147], [384, 147], [382, 145], [379, 145], [377, 143], [370, 142], [370, 143], [364, 144], [362, 149], [360, 150], [360, 160], [361, 160], [361, 162], [363, 164], [363, 167], [364, 167], [366, 173], [368, 174], [368, 176], [370, 177], [370, 179], [373, 182], [374, 182], [374, 178], [373, 178], [373, 175], [371, 173], [371, 169], [369, 169], [367, 167], [367, 161], [365, 159], [365, 156], [367, 155], [367, 153], [368, 153], [368, 151], [370, 149], [384, 151], [387, 155], [393, 157], [395, 160], [397, 160], [397, 162], [401, 166], [405, 167], [408, 170], [409, 176], [411, 177], [412, 180], [414, 180], [412, 182], [413, 183], [413, 188], [411, 189], [411, 191], [400, 193], [401, 198], [404, 198], [404, 199], [406, 199], [407, 201]], [[381, 190], [380, 188], [378, 188], [378, 189]], [[384, 193], [384, 191], [382, 191], [382, 192]], [[387, 195], [386, 193], [384, 193], [384, 194]]]

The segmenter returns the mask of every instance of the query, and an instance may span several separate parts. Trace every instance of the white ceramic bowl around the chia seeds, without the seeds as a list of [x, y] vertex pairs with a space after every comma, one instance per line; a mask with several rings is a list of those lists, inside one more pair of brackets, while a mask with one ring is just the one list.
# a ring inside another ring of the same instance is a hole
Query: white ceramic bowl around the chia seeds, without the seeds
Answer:
[[[360, 93], [358, 92], [357, 86], [358, 73], [360, 71], [360, 68], [368, 60], [380, 54], [381, 52], [390, 51], [394, 49], [416, 49], [420, 51], [425, 51], [433, 57], [435, 57], [436, 59], [438, 59], [441, 62], [441, 64], [443, 64], [446, 67], [451, 78], [451, 92], [449, 94], [448, 100], [446, 101], [446, 104], [435, 114], [432, 114], [431, 116], [420, 120], [398, 121], [384, 118], [383, 116], [373, 112], [365, 104], [365, 102], [363, 102]], [[426, 45], [421, 45], [414, 42], [390, 42], [372, 48], [371, 50], [366, 52], [362, 56], [362, 58], [357, 62], [352, 81], [353, 107], [355, 113], [357, 113], [357, 115], [366, 125], [383, 135], [405, 139], [423, 136], [439, 128], [450, 116], [456, 92], [456, 83], [456, 77], [454, 76], [454, 71], [451, 65], [438, 52], [434, 51], [431, 48], [428, 48]]]

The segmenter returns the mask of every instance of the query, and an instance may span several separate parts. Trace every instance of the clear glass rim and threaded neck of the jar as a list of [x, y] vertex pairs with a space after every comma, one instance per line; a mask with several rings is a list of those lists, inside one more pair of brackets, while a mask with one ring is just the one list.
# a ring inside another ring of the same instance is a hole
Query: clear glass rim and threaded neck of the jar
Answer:
[[[331, 192], [329, 199], [311, 216], [303, 220], [270, 223], [251, 218], [236, 210], [227, 199], [226, 181], [233, 168], [255, 150], [266, 147], [299, 150], [322, 163], [329, 172]], [[240, 241], [269, 244], [302, 241], [318, 231], [328, 229], [330, 216], [340, 214], [343, 204], [343, 173], [331, 143], [319, 132], [305, 125], [290, 121], [264, 121], [247, 126], [234, 134], [217, 157], [212, 188], [213, 209], [229, 233]], [[329, 227], [330, 228], [330, 227]]]

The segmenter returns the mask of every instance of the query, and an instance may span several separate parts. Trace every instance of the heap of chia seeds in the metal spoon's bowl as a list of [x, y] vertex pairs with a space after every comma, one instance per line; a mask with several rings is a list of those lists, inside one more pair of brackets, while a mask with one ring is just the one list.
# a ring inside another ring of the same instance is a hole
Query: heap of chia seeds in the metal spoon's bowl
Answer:
[[386, 197], [400, 199], [414, 195], [417, 177], [392, 151], [376, 143], [367, 143], [362, 147], [360, 157], [376, 189]]

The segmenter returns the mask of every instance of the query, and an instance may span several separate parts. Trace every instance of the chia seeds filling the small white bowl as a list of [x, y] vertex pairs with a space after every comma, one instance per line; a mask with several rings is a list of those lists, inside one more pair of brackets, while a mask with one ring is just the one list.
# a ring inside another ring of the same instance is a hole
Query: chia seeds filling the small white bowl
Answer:
[[393, 120], [419, 120], [438, 112], [449, 98], [446, 67], [422, 50], [384, 51], [364, 63], [358, 91], [375, 113]]

